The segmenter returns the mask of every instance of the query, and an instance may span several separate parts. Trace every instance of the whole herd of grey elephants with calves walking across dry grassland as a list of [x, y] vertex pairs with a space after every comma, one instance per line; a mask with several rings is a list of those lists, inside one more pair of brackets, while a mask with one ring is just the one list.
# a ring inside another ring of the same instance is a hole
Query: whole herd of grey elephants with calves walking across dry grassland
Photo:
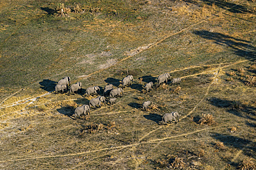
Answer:
[[[157, 78], [157, 82], [158, 82], [157, 86], [161, 85], [162, 83], [167, 84], [167, 81], [170, 80], [170, 78], [171, 78], [171, 76], [169, 73], [161, 74]], [[124, 94], [123, 88], [126, 85], [127, 86], [131, 85], [131, 83], [133, 83], [133, 82], [134, 82], [134, 77], [129, 75], [129, 76], [126, 76], [125, 78], [122, 78], [122, 87], [121, 88], [118, 87], [118, 88], [114, 89], [112, 84], [106, 85], [104, 87], [103, 96], [98, 96], [96, 98], [92, 98], [89, 101], [89, 105], [82, 105], [75, 109], [75, 119], [79, 118], [82, 114], [84, 114], [84, 115], [90, 114], [90, 107], [93, 107], [94, 109], [96, 109], [97, 106], [101, 107], [102, 103], [106, 103], [106, 98], [109, 98], [107, 100], [109, 105], [113, 105], [114, 103], [116, 103], [117, 97], [123, 96], [123, 94]], [[171, 82], [172, 82], [172, 84], [180, 84], [181, 78], [173, 78]], [[69, 95], [74, 94], [75, 92], [78, 92], [78, 90], [82, 89], [82, 83], [78, 82], [78, 83], [71, 85], [71, 78], [67, 76], [67, 77], [62, 78], [60, 81], [58, 81], [57, 85], [55, 85], [55, 93], [58, 93], [58, 92], [64, 93], [65, 91], [67, 91], [68, 86], [70, 86]], [[145, 85], [144, 88], [145, 88], [145, 92], [149, 92], [150, 90], [152, 90], [154, 88], [154, 83], [149, 82]], [[86, 89], [85, 96], [98, 95], [99, 92], [100, 92], [100, 87], [98, 87], [98, 86], [88, 87]], [[145, 101], [143, 103], [142, 109], [147, 110], [147, 108], [151, 104], [152, 104], [151, 101]], [[173, 111], [172, 113], [163, 115], [162, 121], [159, 123], [166, 124], [167, 122], [172, 122], [172, 120], [174, 120], [176, 123], [176, 118], [178, 118], [178, 121], [179, 121], [180, 116], [181, 115], [179, 115], [178, 112]]]

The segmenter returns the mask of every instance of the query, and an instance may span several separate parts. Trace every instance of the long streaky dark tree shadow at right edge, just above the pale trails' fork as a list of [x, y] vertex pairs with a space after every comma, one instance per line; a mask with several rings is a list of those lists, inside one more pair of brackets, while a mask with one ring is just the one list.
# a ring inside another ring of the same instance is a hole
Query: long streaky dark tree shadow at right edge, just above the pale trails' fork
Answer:
[[250, 41], [245, 41], [218, 32], [209, 32], [206, 30], [194, 31], [193, 33], [203, 37], [204, 39], [213, 40], [214, 43], [218, 45], [231, 47], [235, 54], [243, 56], [246, 59], [255, 59], [256, 48], [249, 44]]

